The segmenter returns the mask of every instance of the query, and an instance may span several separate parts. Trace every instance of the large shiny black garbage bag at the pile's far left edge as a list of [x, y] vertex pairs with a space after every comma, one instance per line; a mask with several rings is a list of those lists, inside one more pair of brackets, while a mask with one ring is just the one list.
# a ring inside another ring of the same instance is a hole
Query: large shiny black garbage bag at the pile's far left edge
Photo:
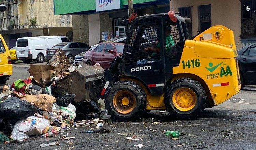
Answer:
[[0, 118], [3, 118], [5, 123], [5, 134], [11, 134], [13, 127], [18, 120], [34, 116], [37, 112], [40, 115], [43, 115], [42, 109], [17, 97], [10, 97], [0, 103]]

